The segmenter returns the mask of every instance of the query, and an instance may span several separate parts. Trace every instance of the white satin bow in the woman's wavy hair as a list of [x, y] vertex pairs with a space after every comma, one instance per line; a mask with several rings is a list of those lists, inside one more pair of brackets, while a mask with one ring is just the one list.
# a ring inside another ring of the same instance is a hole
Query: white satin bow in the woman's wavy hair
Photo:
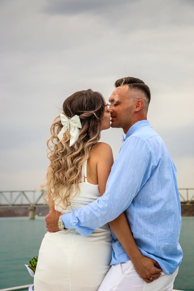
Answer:
[[57, 136], [60, 140], [62, 140], [64, 132], [68, 129], [71, 136], [69, 146], [73, 146], [74, 143], [78, 140], [80, 133], [79, 128], [82, 128], [80, 118], [78, 115], [74, 115], [71, 119], [69, 119], [62, 113], [60, 114], [60, 117], [63, 127]]

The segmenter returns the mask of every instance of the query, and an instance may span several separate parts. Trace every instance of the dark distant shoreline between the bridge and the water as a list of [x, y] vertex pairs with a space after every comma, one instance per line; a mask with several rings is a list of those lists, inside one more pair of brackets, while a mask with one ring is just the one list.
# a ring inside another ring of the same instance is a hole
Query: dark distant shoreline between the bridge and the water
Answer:
[[[0, 217], [22, 217], [29, 216], [28, 206], [12, 206], [12, 207], [0, 207]], [[38, 206], [35, 210], [35, 215], [46, 216], [49, 213], [49, 206]], [[194, 203], [184, 204], [181, 203], [181, 215], [182, 216], [194, 216]]]

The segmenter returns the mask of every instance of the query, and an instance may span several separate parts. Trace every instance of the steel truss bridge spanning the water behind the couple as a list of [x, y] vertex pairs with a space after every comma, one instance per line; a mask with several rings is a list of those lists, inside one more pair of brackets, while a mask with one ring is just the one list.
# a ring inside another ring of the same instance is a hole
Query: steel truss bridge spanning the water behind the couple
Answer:
[[[43, 206], [43, 194], [44, 190], [0, 191], [0, 207]], [[179, 188], [179, 196], [182, 204], [194, 204], [194, 188]]]

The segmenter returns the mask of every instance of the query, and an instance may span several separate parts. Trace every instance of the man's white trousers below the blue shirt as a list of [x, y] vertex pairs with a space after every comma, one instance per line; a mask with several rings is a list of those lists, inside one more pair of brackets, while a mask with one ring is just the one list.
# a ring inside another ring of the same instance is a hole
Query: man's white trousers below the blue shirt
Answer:
[[171, 275], [162, 275], [146, 283], [135, 271], [131, 261], [112, 265], [98, 291], [172, 291], [179, 268]]

